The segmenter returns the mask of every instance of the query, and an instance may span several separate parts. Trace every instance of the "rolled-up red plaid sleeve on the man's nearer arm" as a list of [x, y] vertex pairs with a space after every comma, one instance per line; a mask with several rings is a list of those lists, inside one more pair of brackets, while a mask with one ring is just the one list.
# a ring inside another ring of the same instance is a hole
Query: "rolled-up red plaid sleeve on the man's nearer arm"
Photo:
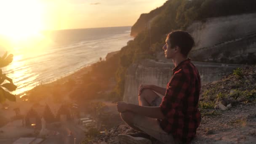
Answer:
[[189, 86], [187, 76], [181, 69], [175, 72], [167, 85], [165, 96], [160, 104], [160, 109], [165, 117], [175, 114], [177, 107], [180, 107]]

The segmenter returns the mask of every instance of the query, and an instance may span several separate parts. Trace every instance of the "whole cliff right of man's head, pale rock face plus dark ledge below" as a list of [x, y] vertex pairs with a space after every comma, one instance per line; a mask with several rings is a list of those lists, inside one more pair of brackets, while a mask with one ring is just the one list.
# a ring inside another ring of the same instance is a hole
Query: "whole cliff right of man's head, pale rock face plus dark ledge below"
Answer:
[[255, 64], [256, 13], [195, 21], [189, 31], [195, 47], [189, 54], [195, 61]]

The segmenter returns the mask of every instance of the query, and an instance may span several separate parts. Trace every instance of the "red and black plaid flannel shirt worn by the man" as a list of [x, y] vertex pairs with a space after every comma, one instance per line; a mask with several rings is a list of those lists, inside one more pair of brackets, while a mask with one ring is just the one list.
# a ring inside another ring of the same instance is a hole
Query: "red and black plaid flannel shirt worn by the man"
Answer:
[[187, 59], [173, 69], [173, 76], [160, 104], [165, 115], [160, 126], [167, 133], [171, 133], [174, 139], [183, 143], [189, 143], [195, 137], [200, 124], [200, 89], [199, 72], [190, 59]]

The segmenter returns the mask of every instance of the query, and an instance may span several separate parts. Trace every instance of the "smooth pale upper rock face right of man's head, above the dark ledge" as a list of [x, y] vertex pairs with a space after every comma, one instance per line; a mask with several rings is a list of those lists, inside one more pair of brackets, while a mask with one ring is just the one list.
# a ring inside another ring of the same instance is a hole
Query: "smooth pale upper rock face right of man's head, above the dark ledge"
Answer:
[[193, 49], [197, 49], [255, 33], [255, 24], [256, 13], [250, 13], [195, 21], [187, 28], [187, 31], [195, 39], [196, 47]]

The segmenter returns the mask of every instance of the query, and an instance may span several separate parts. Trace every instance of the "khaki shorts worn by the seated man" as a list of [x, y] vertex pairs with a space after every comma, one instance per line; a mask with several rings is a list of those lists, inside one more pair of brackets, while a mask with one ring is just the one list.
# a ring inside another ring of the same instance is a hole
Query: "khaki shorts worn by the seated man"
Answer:
[[[152, 101], [151, 105], [157, 107], [161, 104], [161, 101], [162, 98], [159, 97]], [[160, 127], [159, 121], [155, 118], [135, 115], [133, 117], [133, 125], [164, 144], [179, 144], [179, 142], [173, 139], [171, 134], [163, 131]]]

